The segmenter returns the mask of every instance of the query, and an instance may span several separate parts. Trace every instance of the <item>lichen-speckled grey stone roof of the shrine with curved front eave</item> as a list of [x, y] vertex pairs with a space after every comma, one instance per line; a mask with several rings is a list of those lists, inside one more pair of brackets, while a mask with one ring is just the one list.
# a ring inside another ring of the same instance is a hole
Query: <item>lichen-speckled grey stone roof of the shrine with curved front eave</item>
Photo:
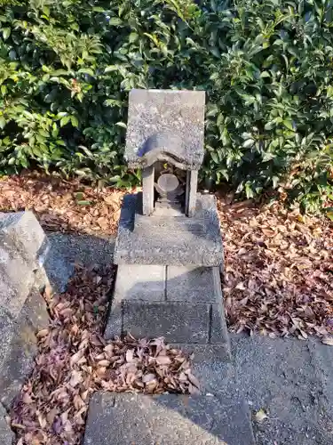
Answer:
[[203, 91], [132, 90], [125, 159], [131, 168], [170, 161], [198, 170], [203, 158]]

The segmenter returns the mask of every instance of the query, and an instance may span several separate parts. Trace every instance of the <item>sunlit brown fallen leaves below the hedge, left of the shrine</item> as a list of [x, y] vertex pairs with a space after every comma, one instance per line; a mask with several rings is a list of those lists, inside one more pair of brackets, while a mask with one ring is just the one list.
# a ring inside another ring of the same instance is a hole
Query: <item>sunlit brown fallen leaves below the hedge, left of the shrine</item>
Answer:
[[125, 193], [57, 176], [20, 174], [0, 181], [0, 211], [33, 210], [46, 231], [109, 235], [116, 231]]

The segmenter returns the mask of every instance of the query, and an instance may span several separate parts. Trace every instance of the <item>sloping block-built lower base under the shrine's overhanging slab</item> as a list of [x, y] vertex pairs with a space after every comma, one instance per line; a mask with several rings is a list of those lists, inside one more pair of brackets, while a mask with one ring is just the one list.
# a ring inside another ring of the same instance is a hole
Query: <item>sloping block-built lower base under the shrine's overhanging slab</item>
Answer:
[[105, 336], [228, 347], [217, 267], [121, 264]]

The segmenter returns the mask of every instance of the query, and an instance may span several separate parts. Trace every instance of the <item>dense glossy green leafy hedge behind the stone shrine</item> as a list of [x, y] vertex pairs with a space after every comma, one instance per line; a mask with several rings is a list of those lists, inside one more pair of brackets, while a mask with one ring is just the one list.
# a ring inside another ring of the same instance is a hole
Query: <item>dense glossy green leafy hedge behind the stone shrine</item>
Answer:
[[333, 0], [2, 0], [0, 170], [139, 181], [128, 91], [207, 92], [202, 178], [332, 197]]

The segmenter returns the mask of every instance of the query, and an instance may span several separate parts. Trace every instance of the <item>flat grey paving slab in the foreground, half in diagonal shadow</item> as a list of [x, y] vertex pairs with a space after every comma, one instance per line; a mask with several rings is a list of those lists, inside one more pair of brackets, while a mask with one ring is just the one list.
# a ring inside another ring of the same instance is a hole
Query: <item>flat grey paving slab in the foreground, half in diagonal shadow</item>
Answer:
[[242, 401], [213, 396], [95, 393], [83, 445], [254, 445]]

